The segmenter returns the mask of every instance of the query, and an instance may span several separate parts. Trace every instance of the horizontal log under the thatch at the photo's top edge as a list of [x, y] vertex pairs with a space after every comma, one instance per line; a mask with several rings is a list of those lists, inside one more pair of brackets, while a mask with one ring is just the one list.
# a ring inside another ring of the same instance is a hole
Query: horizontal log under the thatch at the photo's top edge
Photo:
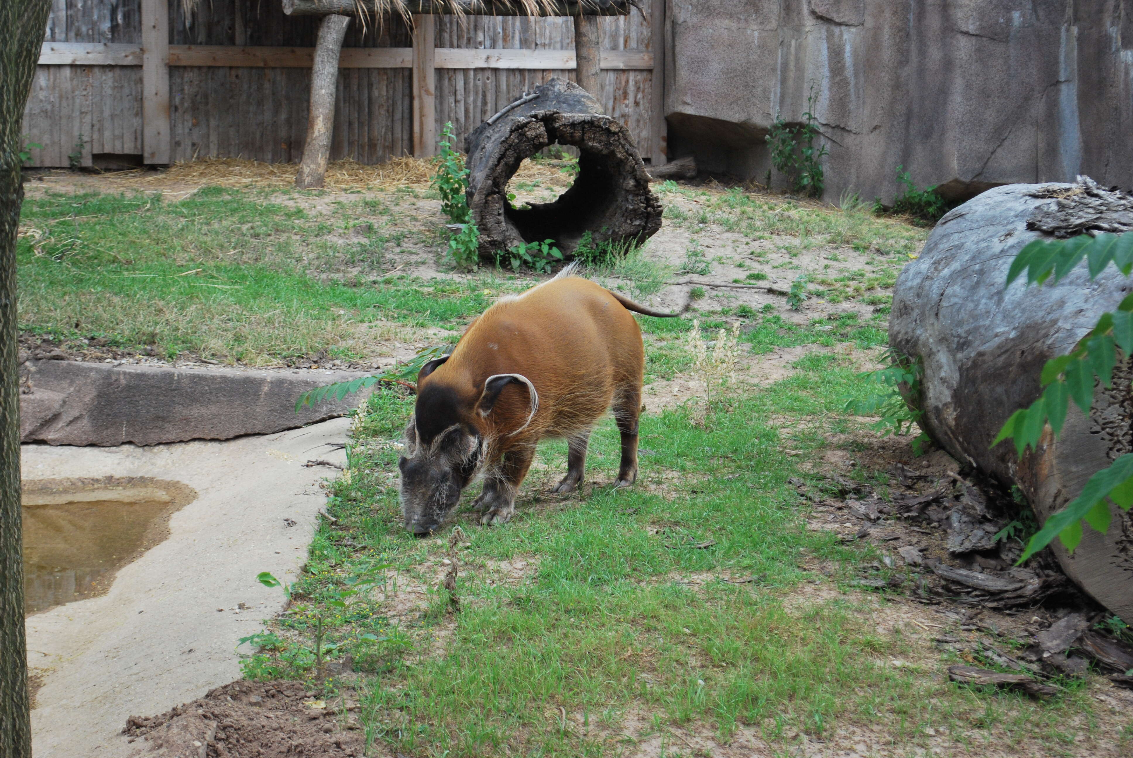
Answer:
[[629, 0], [283, 0], [288, 16], [352, 16], [360, 10], [369, 15], [389, 12], [448, 16], [625, 16], [633, 5]]

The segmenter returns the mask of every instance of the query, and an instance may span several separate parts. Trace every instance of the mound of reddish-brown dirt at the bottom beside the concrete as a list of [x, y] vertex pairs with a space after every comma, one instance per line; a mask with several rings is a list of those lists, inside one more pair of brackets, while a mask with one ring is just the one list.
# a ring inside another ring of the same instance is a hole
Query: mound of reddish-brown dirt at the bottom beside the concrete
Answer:
[[365, 739], [349, 709], [333, 709], [300, 682], [237, 681], [160, 716], [130, 716], [137, 756], [186, 758], [360, 757]]

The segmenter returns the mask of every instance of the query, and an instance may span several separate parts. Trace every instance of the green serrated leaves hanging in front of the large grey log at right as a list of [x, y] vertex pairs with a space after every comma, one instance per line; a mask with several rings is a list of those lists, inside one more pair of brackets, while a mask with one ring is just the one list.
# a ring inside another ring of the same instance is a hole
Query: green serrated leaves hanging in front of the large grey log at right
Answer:
[[[1133, 232], [1036, 240], [1015, 256], [1007, 272], [1007, 287], [1024, 272], [1026, 286], [1058, 282], [1083, 259], [1091, 280], [1110, 263], [1128, 276], [1133, 271]], [[1030, 408], [1012, 414], [991, 444], [1010, 438], [1022, 458], [1028, 448], [1038, 450], [1048, 425], [1054, 436], [1059, 436], [1071, 400], [1088, 415], [1093, 406], [1094, 383], [1101, 382], [1107, 387], [1111, 384], [1118, 349], [1123, 356], [1133, 355], [1133, 295], [1125, 297], [1116, 312], [1101, 314], [1073, 350], [1046, 363], [1039, 377], [1042, 394]], [[1110, 501], [1126, 511], [1133, 506], [1133, 453], [1122, 455], [1109, 468], [1091, 476], [1077, 497], [1051, 513], [1042, 529], [1026, 543], [1020, 561], [1049, 545], [1056, 536], [1073, 553], [1082, 542], [1083, 521], [1105, 534], [1111, 520]]]

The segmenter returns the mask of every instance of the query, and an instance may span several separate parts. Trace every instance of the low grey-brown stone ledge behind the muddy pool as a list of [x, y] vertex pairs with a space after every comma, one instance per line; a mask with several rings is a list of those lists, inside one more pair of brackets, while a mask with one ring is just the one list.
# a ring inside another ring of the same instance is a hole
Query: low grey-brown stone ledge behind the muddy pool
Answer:
[[356, 408], [365, 395], [295, 412], [296, 400], [307, 390], [363, 375], [28, 360], [20, 366], [20, 438], [53, 445], [154, 445], [272, 434]]

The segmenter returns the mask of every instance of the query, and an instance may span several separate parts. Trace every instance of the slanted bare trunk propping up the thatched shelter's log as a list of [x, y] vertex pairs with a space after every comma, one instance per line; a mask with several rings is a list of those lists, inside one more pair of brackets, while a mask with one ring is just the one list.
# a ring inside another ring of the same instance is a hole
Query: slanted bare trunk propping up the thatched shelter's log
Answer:
[[295, 177], [299, 189], [322, 187], [326, 180], [326, 161], [334, 134], [334, 93], [339, 83], [339, 53], [350, 26], [349, 16], [324, 16], [318, 26], [315, 62], [310, 67], [310, 113], [307, 117], [307, 142], [303, 162]]

